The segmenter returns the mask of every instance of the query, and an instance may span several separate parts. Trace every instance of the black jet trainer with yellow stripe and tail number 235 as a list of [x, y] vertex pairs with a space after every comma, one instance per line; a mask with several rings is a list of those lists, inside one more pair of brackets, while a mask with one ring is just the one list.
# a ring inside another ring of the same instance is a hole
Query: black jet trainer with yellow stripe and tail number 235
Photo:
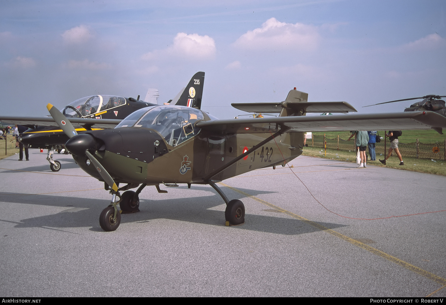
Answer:
[[[198, 74], [194, 75], [195, 79]], [[194, 77], [190, 80], [188, 88], [194, 84]], [[202, 85], [196, 86], [197, 92], [195, 95], [195, 103], [201, 103]], [[152, 91], [153, 92], [152, 92]], [[147, 96], [159, 96], [156, 89], [149, 89]], [[178, 95], [169, 100], [168, 103], [187, 106], [189, 101], [189, 92], [183, 88]], [[134, 98], [124, 98], [115, 95], [92, 95], [82, 99], [77, 99], [62, 109], [62, 114], [75, 124], [76, 131], [82, 132], [87, 130], [98, 130], [103, 128], [114, 128], [120, 123], [122, 119], [130, 115], [132, 112], [150, 106], [157, 106], [157, 103], [149, 103]], [[59, 171], [62, 166], [57, 160], [53, 160], [54, 151], [61, 152], [68, 136], [58, 127], [51, 117], [45, 118], [26, 118], [23, 117], [0, 117], [0, 121], [8, 124], [20, 124], [29, 129], [21, 134], [19, 141], [27, 144], [29, 148], [44, 148], [48, 149], [46, 159], [50, 162], [50, 169], [54, 172]], [[81, 119], [81, 120], [74, 120]], [[90, 119], [90, 120], [82, 120]], [[91, 120], [94, 119], [94, 120]], [[108, 119], [108, 121], [104, 121]], [[110, 121], [113, 120], [113, 121]], [[107, 122], [107, 124], [103, 124]]]

